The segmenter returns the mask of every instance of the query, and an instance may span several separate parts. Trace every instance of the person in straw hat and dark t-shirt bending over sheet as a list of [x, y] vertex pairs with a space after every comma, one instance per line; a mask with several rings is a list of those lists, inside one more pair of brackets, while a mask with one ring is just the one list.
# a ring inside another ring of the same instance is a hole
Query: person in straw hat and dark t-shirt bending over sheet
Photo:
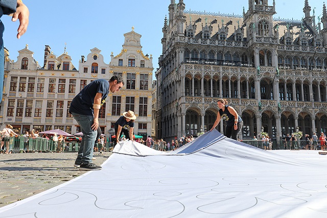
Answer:
[[116, 142], [119, 143], [119, 139], [124, 133], [126, 139], [133, 140], [134, 120], [136, 116], [133, 111], [129, 110], [123, 113], [123, 116], [114, 124], [114, 134], [116, 136]]

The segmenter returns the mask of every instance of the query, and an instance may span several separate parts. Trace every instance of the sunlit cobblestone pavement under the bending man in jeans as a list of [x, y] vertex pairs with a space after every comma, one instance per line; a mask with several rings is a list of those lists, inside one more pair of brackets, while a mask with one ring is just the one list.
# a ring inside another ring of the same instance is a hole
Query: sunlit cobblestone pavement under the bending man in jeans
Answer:
[[[94, 154], [101, 165], [111, 152]], [[87, 171], [74, 167], [77, 153], [0, 154], [0, 207], [31, 197]]]

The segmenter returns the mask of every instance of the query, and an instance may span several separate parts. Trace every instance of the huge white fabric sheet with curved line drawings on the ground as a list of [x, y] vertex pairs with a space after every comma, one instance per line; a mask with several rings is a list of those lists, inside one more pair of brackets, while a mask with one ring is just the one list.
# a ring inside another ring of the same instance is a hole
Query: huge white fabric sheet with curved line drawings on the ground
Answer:
[[327, 156], [207, 132], [174, 152], [126, 141], [88, 172], [0, 217], [327, 217]]

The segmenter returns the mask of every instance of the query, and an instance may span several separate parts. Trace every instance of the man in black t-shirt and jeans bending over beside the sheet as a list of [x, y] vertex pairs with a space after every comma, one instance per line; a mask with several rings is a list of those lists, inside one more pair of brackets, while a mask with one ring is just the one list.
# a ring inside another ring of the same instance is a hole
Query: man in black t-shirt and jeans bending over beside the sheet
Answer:
[[123, 78], [120, 76], [113, 76], [109, 81], [104, 79], [92, 81], [75, 96], [69, 107], [69, 113], [73, 114], [83, 133], [74, 164], [81, 171], [102, 169], [101, 166], [92, 163], [93, 148], [99, 128], [99, 111], [106, 101], [109, 90], [114, 93], [123, 85]]

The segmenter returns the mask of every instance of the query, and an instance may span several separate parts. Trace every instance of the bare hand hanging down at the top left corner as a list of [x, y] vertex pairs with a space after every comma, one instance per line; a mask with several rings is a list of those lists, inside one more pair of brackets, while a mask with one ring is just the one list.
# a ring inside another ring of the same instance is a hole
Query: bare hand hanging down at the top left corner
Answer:
[[17, 39], [22, 36], [29, 25], [29, 16], [30, 16], [30, 11], [27, 8], [26, 5], [24, 5], [21, 1], [17, 1], [17, 8], [16, 12], [12, 16], [12, 21], [15, 22], [17, 19], [19, 19], [19, 27], [17, 29]]

